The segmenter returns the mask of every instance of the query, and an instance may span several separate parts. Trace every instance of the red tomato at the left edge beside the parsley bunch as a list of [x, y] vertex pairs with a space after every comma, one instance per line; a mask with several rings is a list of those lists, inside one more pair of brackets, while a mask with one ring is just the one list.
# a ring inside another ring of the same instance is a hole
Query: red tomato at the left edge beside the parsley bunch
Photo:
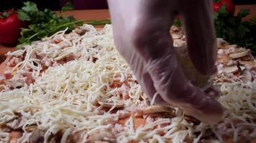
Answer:
[[19, 20], [17, 11], [9, 9], [0, 12], [0, 43], [10, 46], [17, 44], [20, 28], [24, 26], [26, 24]]

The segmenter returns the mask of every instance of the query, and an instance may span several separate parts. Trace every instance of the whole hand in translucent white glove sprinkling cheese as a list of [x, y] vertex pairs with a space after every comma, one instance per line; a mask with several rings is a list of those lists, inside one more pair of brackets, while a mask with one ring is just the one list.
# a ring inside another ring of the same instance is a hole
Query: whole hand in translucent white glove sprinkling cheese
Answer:
[[201, 74], [216, 71], [216, 37], [210, 0], [109, 0], [116, 48], [127, 60], [142, 90], [155, 102], [180, 107], [202, 122], [222, 119], [221, 104], [186, 78], [173, 47], [170, 26], [183, 17], [188, 54]]

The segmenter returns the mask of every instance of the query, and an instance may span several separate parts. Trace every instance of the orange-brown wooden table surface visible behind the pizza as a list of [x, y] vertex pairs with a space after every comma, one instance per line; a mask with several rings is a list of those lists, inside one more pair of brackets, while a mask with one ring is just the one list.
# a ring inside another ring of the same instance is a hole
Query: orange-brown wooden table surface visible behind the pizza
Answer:
[[[250, 19], [254, 14], [256, 14], [256, 5], [238, 5], [236, 6], [237, 13], [240, 9], [250, 9], [251, 14], [245, 18]], [[96, 10], [75, 10], [67, 11], [65, 15], [73, 15], [76, 19], [81, 20], [104, 20], [109, 19], [109, 10], [108, 9], [96, 9]], [[0, 44], [0, 63], [6, 59], [4, 54], [8, 51], [14, 51], [14, 47], [3, 46]]]

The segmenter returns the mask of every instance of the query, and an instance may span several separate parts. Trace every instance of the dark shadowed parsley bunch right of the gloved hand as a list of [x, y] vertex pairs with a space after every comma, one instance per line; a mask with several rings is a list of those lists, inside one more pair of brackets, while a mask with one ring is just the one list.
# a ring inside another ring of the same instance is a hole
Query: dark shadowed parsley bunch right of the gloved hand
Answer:
[[227, 6], [221, 6], [214, 12], [214, 24], [216, 36], [223, 38], [232, 44], [252, 49], [256, 53], [256, 19], [242, 21], [242, 18], [250, 14], [249, 9], [242, 9], [237, 16], [226, 11]]

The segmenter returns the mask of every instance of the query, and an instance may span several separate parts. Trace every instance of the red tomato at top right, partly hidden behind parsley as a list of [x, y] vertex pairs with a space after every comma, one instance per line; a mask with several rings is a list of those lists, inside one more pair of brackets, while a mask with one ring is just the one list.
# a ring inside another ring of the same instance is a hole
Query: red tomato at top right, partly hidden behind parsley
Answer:
[[219, 8], [225, 4], [227, 5], [227, 11], [234, 14], [234, 3], [232, 0], [221, 0], [214, 2], [214, 11], [219, 11]]

